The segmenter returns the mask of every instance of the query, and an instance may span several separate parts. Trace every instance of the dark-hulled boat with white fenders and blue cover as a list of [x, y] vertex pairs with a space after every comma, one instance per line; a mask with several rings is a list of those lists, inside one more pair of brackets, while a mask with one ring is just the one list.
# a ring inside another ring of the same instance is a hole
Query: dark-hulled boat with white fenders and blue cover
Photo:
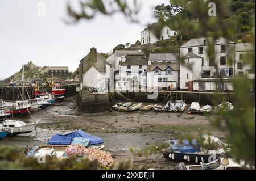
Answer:
[[230, 151], [229, 148], [225, 150], [224, 148], [227, 148], [228, 145], [224, 144], [215, 136], [204, 135], [203, 139], [205, 148], [207, 147], [206, 145], [214, 145], [214, 149], [206, 150], [196, 139], [193, 139], [192, 141], [169, 140], [164, 141], [165, 146], [162, 149], [163, 156], [168, 159], [195, 163], [199, 163], [200, 160], [203, 159], [205, 163], [208, 163], [210, 160], [209, 158], [212, 157], [212, 153], [215, 153], [216, 158], [218, 158], [221, 153]]

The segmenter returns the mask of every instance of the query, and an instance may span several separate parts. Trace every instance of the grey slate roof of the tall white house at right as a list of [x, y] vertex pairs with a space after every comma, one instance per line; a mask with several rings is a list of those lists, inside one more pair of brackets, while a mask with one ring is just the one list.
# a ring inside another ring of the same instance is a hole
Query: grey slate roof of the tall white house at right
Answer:
[[[209, 37], [200, 37], [196, 39], [191, 39], [187, 43], [181, 46], [182, 47], [195, 47], [195, 46], [203, 46], [204, 45], [204, 40], [206, 40], [205, 45], [209, 45], [208, 40], [212, 41], [213, 38]], [[219, 37], [218, 40], [214, 42], [215, 45], [220, 45], [220, 44], [232, 44], [234, 41], [228, 41], [224, 39], [224, 37]]]

